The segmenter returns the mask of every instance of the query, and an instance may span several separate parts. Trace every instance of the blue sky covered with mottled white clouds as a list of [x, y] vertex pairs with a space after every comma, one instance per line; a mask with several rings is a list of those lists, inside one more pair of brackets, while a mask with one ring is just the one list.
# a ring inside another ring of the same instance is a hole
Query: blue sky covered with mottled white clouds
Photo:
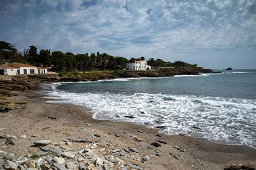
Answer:
[[256, 69], [256, 0], [1, 0], [0, 40], [41, 49]]

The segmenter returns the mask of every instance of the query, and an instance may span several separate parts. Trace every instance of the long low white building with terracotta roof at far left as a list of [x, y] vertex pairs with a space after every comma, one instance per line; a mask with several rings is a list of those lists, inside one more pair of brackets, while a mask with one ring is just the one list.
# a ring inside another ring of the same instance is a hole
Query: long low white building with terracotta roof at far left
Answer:
[[47, 68], [25, 65], [23, 63], [8, 63], [0, 65], [0, 75], [42, 74]]

